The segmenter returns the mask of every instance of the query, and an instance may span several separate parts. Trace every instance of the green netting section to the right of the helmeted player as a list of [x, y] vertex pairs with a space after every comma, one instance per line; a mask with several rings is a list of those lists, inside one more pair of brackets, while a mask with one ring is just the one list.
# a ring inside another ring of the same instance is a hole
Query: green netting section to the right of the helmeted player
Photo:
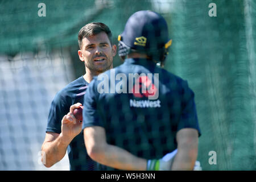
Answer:
[[[196, 93], [204, 169], [255, 169], [255, 1], [180, 1], [167, 69]], [[210, 165], [216, 151], [217, 165]]]

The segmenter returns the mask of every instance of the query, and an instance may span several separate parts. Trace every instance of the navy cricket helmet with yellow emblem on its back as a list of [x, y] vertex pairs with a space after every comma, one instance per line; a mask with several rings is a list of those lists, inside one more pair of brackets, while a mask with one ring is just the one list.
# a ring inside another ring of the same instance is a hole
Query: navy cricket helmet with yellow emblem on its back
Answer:
[[131, 15], [118, 41], [119, 56], [125, 57], [133, 51], [143, 52], [157, 61], [164, 61], [172, 43], [168, 38], [166, 20], [150, 10], [137, 11]]

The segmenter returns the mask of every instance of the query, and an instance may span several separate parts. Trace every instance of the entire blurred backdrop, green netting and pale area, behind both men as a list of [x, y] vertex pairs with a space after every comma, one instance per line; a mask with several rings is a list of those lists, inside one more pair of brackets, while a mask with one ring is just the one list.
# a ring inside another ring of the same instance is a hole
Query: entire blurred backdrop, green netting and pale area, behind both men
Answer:
[[103, 22], [117, 44], [139, 10], [168, 22], [165, 69], [195, 92], [203, 170], [256, 169], [256, 1], [16, 0], [0, 1], [0, 170], [69, 170], [67, 155], [44, 167], [40, 149], [53, 97], [85, 73], [77, 34]]

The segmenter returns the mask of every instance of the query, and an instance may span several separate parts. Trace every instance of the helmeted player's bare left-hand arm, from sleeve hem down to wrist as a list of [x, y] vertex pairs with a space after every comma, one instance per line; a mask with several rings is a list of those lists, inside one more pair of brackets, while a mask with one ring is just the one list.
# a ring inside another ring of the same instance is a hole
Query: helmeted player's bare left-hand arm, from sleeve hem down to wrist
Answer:
[[146, 159], [138, 158], [120, 147], [108, 144], [103, 127], [86, 127], [84, 141], [88, 155], [98, 163], [122, 170], [146, 170]]

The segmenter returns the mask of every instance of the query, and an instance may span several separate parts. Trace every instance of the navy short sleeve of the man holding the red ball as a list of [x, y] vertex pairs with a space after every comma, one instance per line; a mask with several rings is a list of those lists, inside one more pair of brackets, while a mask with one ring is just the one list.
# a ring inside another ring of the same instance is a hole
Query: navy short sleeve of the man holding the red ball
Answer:
[[49, 109], [46, 132], [61, 133], [61, 120], [69, 111], [65, 100], [57, 93]]

